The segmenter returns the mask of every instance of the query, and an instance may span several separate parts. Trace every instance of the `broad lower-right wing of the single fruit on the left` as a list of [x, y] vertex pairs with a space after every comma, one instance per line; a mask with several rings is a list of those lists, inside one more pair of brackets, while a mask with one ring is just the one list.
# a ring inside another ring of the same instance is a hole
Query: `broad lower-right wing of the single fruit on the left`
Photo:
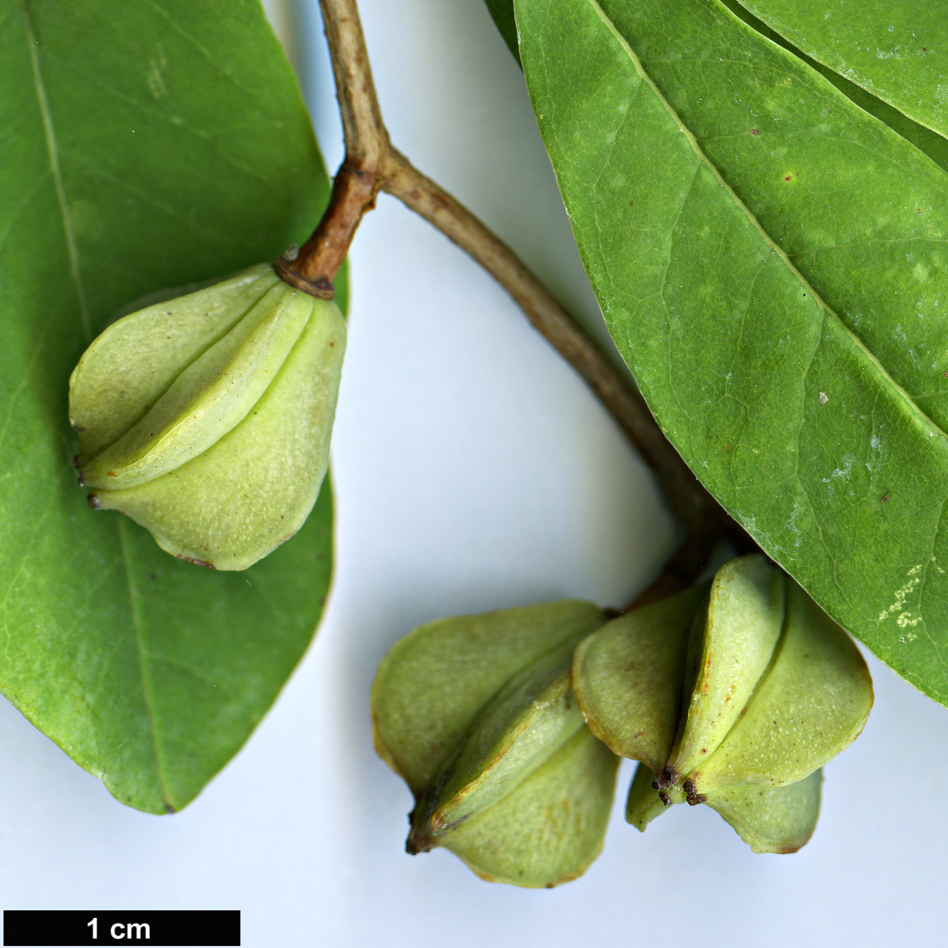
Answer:
[[151, 531], [162, 549], [221, 570], [243, 570], [300, 529], [319, 495], [345, 321], [314, 300], [307, 328], [246, 418], [203, 454], [148, 483], [96, 490], [90, 502]]

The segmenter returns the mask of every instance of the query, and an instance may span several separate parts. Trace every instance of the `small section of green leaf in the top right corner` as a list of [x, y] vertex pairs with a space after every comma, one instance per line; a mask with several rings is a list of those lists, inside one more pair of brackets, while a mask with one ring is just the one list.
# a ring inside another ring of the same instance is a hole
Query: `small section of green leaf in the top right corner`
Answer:
[[745, 0], [743, 6], [820, 63], [948, 133], [948, 17], [939, 0]]

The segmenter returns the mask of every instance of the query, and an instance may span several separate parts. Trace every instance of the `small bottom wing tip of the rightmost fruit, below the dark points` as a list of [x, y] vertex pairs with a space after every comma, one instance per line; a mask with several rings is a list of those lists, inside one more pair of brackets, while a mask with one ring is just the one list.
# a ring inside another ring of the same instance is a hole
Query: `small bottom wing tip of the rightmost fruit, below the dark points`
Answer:
[[817, 770], [783, 787], [721, 787], [705, 802], [755, 852], [796, 852], [816, 829], [822, 783], [823, 771]]

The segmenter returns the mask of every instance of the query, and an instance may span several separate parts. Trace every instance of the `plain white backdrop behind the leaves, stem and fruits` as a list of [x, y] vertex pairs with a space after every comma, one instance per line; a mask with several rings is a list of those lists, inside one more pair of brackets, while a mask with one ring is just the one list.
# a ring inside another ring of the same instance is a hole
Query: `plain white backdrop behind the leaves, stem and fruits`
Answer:
[[[361, 7], [392, 140], [596, 325], [520, 70], [482, 0]], [[291, 45], [335, 169], [316, 0], [298, 13]], [[577, 882], [520, 890], [447, 851], [404, 853], [410, 794], [369, 734], [386, 650], [451, 613], [624, 604], [675, 528], [611, 418], [439, 233], [383, 195], [351, 260], [337, 572], [314, 647], [174, 816], [122, 807], [0, 701], [0, 906], [240, 908], [252, 948], [945, 943], [948, 710], [871, 657], [875, 710], [826, 768], [796, 855], [754, 855], [703, 807], [638, 833], [622, 819], [628, 764], [605, 851]]]

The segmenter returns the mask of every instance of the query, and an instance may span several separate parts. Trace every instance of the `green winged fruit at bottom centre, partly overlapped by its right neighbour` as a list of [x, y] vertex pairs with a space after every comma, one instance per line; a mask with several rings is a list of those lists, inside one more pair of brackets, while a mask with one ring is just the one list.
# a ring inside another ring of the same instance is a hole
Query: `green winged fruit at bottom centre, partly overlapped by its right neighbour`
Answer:
[[602, 846], [617, 759], [584, 724], [574, 647], [590, 603], [459, 616], [415, 629], [379, 666], [375, 747], [415, 795], [408, 848], [448, 848], [484, 878], [555, 885]]

